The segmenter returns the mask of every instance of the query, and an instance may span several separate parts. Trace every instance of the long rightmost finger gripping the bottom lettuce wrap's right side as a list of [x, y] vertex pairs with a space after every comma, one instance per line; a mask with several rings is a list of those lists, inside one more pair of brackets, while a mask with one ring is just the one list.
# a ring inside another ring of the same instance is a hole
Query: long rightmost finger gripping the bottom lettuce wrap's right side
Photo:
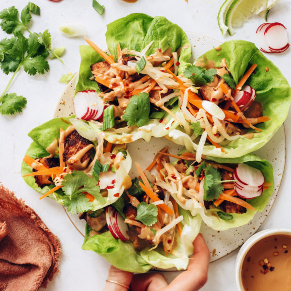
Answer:
[[194, 242], [194, 253], [189, 260], [187, 271], [177, 278], [164, 291], [197, 291], [205, 285], [210, 261], [210, 252], [202, 234], [198, 234]]

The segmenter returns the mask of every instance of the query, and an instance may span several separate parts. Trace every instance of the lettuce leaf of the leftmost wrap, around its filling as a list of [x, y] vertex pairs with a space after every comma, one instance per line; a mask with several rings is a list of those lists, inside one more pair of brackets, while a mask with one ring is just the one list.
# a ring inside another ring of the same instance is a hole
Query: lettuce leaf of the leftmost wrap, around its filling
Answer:
[[[74, 119], [75, 119], [74, 116], [54, 118], [36, 127], [35, 129], [32, 129], [28, 134], [32, 138], [32, 144], [28, 148], [26, 155], [29, 157], [32, 157], [33, 159], [44, 158], [44, 157], [50, 156], [51, 152], [49, 153], [46, 149], [48, 149], [48, 147], [53, 142], [59, 140], [60, 128], [64, 130], [67, 129], [69, 126], [71, 126], [70, 121]], [[83, 126], [86, 126], [85, 122], [81, 120], [78, 120], [78, 122], [79, 122], [79, 128], [82, 129], [80, 123], [82, 123]], [[83, 137], [84, 134], [82, 133], [82, 131], [79, 130], [79, 133]], [[91, 137], [89, 138], [91, 139], [91, 141], [93, 141], [93, 143], [97, 144], [96, 133], [94, 133], [94, 136], [91, 135]], [[96, 150], [98, 150], [97, 147], [96, 147]], [[56, 153], [54, 154], [54, 157], [58, 158], [59, 147], [56, 148], [55, 152]], [[49, 194], [49, 197], [56, 200], [58, 203], [68, 207], [68, 210], [72, 213], [75, 213], [76, 211], [83, 212], [83, 211], [88, 211], [88, 210], [93, 210], [93, 211], [98, 210], [100, 208], [103, 208], [115, 202], [118, 199], [118, 195], [116, 195], [116, 193], [119, 193], [119, 195], [121, 195], [123, 191], [129, 188], [131, 185], [131, 181], [128, 176], [129, 170], [131, 168], [131, 158], [129, 156], [128, 151], [126, 150], [125, 145], [116, 145], [111, 151], [111, 153], [109, 154], [112, 156], [119, 157], [119, 161], [114, 163], [114, 168], [112, 167], [114, 171], [110, 169], [106, 169], [106, 171], [104, 170], [103, 173], [99, 173], [99, 184], [100, 184], [101, 189], [97, 189], [96, 191], [97, 194], [99, 194], [98, 192], [100, 192], [100, 190], [101, 192], [104, 191], [102, 190], [104, 189], [104, 186], [102, 186], [101, 184], [111, 185], [113, 180], [115, 182], [114, 187], [111, 186], [111, 187], [108, 187], [108, 189], [105, 188], [108, 191], [108, 194], [107, 196], [103, 197], [103, 199], [101, 197], [98, 197], [97, 199], [92, 196], [91, 197], [92, 199], [90, 199], [89, 201], [89, 198], [87, 198], [84, 194], [80, 193], [78, 194], [78, 196], [74, 196], [73, 194], [68, 195], [64, 193], [64, 191], [62, 191], [62, 188], [58, 189], [52, 194]], [[93, 157], [92, 157], [92, 160], [93, 160]], [[81, 171], [73, 171], [73, 173], [74, 172], [81, 172]], [[32, 167], [26, 162], [22, 162], [21, 175], [24, 176], [30, 173], [32, 173]], [[88, 177], [92, 178], [92, 171], [88, 173], [87, 175]], [[102, 178], [101, 178], [101, 175], [102, 175]], [[23, 178], [25, 182], [29, 186], [32, 187], [32, 189], [34, 189], [40, 194], [46, 194], [50, 189], [55, 187], [55, 184], [52, 183], [50, 185], [46, 185], [41, 188], [36, 184], [33, 176], [23, 177]], [[76, 176], [74, 176], [73, 178], [76, 178]], [[97, 180], [96, 180], [96, 184], [98, 184]], [[71, 205], [71, 201], [73, 201], [74, 203], [73, 205]]]

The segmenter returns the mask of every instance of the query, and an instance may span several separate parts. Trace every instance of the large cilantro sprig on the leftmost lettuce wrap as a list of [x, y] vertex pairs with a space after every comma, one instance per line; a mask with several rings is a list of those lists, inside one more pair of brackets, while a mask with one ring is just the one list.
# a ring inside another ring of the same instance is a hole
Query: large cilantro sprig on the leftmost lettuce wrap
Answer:
[[82, 171], [73, 171], [71, 174], [65, 175], [65, 180], [62, 182], [62, 190], [64, 206], [72, 214], [85, 212], [93, 207], [93, 203], [89, 201], [85, 193], [93, 195], [100, 203], [104, 203], [104, 198], [100, 194], [100, 187], [95, 178], [87, 176]]

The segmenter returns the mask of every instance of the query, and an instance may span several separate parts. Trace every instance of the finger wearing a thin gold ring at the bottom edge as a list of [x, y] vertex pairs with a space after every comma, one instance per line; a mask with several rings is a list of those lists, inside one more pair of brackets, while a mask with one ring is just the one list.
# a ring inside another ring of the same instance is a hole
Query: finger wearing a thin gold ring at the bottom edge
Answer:
[[[131, 279], [132, 279], [132, 275], [133, 274], [130, 272], [122, 271], [122, 270], [115, 268], [114, 266], [111, 266], [109, 269], [107, 279], [119, 282], [119, 283], [126, 285], [126, 286], [129, 286]], [[104, 290], [106, 290], [106, 291], [115, 291], [115, 290], [126, 291], [127, 288], [122, 287], [121, 285], [118, 285], [116, 283], [106, 281]]]

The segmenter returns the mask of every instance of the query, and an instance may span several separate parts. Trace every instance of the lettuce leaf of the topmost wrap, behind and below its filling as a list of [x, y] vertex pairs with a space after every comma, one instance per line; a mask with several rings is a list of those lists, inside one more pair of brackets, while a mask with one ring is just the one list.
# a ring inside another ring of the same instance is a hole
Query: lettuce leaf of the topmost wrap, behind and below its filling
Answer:
[[[178, 51], [175, 66], [178, 67], [178, 72], [180, 73], [191, 56], [191, 45], [186, 33], [178, 25], [162, 16], [151, 17], [145, 14], [135, 13], [117, 19], [108, 24], [106, 41], [108, 49], [114, 57], [114, 61], [117, 61], [118, 44], [121, 49], [131, 49], [137, 52], [142, 51], [146, 46], [151, 44], [146, 51], [147, 55], [154, 54], [162, 45], [164, 46], [166, 44], [166, 47], [168, 46], [172, 52]], [[100, 56], [90, 46], [80, 46], [80, 55], [81, 64], [75, 87], [75, 95], [85, 90], [94, 90], [101, 94], [100, 84], [94, 80], [95, 76], [92, 73], [91, 66], [99, 62], [104, 62], [104, 55], [103, 57]], [[125, 98], [128, 99], [129, 97], [126, 96]], [[105, 106], [107, 106], [106, 102]], [[121, 105], [119, 104], [118, 106]], [[140, 138], [149, 141], [152, 136], [163, 137], [167, 135], [172, 129], [182, 126], [183, 122], [179, 122], [178, 119], [173, 118], [177, 112], [180, 112], [177, 98], [173, 97], [170, 99], [165, 104], [165, 107], [171, 111], [171, 114], [163, 111], [164, 114], [159, 112], [162, 115], [157, 117], [155, 111], [159, 108], [154, 109], [151, 103], [150, 113], [147, 114], [149, 117], [147, 118], [146, 116], [148, 122], [144, 122], [142, 125], [137, 123], [136, 126], [132, 126], [132, 124], [129, 126], [128, 123], [127, 127], [121, 127], [117, 130], [113, 127], [106, 130], [103, 129], [105, 140], [110, 143], [123, 144], [133, 142]], [[133, 115], [132, 112], [129, 114]], [[163, 122], [161, 123], [161, 121]], [[116, 123], [115, 120], [115, 126]], [[97, 129], [97, 132], [102, 130], [102, 123], [95, 123], [92, 126]]]

